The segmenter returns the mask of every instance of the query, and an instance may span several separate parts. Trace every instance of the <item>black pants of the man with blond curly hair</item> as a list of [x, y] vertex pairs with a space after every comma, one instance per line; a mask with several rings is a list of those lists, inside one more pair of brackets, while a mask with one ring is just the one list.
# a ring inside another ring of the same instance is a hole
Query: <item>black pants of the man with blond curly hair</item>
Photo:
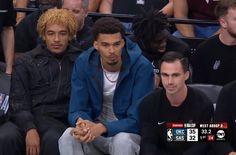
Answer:
[[37, 116], [36, 125], [40, 135], [40, 155], [60, 155], [58, 139], [68, 127], [67, 119]]

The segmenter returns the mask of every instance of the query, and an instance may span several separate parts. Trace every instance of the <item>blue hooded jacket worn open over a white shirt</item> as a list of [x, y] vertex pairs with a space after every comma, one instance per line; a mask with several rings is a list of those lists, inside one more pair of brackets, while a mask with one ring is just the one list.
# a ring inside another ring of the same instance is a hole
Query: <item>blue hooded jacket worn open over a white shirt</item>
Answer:
[[[154, 88], [153, 69], [141, 54], [136, 43], [126, 38], [122, 51], [122, 68], [113, 97], [113, 111], [117, 121], [106, 122], [107, 136], [119, 132], [139, 133], [139, 104]], [[69, 122], [79, 117], [96, 121], [103, 104], [103, 70], [99, 53], [90, 48], [75, 62], [72, 73], [72, 92]]]

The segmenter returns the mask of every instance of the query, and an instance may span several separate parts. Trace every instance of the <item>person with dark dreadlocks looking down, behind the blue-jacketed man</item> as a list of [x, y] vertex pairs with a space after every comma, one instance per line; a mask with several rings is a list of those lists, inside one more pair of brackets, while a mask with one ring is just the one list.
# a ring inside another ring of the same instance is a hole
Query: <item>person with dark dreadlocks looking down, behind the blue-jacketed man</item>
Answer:
[[133, 40], [142, 49], [142, 54], [152, 63], [156, 86], [160, 86], [160, 69], [158, 62], [167, 51], [178, 51], [188, 57], [188, 44], [172, 36], [168, 30], [167, 16], [159, 10], [151, 10], [137, 16], [133, 22]]

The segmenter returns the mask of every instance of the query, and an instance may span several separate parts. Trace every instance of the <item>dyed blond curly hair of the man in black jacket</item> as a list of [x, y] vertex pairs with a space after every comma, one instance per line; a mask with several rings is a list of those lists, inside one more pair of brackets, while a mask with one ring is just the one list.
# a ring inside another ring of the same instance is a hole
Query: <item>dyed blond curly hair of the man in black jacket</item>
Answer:
[[75, 16], [67, 9], [49, 9], [43, 13], [37, 24], [37, 31], [40, 37], [45, 36], [46, 27], [48, 25], [58, 24], [65, 26], [69, 32], [70, 40], [73, 39], [78, 30], [78, 22]]

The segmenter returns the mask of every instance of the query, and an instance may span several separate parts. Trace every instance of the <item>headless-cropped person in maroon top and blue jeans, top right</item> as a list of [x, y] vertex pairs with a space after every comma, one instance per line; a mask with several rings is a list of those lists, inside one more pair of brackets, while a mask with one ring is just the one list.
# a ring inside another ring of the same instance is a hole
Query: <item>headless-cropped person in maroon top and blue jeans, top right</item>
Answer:
[[[214, 9], [219, 0], [173, 0], [174, 17], [178, 19], [216, 20]], [[209, 38], [218, 25], [176, 24], [176, 37]]]

